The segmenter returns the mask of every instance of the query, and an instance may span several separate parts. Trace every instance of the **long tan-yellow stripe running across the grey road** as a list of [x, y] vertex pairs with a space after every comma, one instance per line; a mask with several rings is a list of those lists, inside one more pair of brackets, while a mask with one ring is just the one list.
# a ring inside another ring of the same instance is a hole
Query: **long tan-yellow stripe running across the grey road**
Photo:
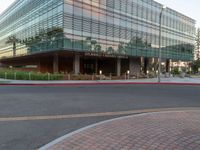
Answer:
[[199, 107], [158, 108], [158, 109], [142, 109], [142, 110], [130, 110], [130, 111], [69, 114], [69, 115], [6, 117], [6, 118], [0, 118], [0, 122], [31, 121], [31, 120], [58, 120], [58, 119], [72, 119], [72, 118], [86, 118], [86, 117], [105, 117], [105, 116], [131, 115], [131, 114], [139, 114], [139, 113], [150, 113], [150, 112], [160, 112], [160, 111], [181, 111], [181, 110], [200, 110], [200, 108]]

